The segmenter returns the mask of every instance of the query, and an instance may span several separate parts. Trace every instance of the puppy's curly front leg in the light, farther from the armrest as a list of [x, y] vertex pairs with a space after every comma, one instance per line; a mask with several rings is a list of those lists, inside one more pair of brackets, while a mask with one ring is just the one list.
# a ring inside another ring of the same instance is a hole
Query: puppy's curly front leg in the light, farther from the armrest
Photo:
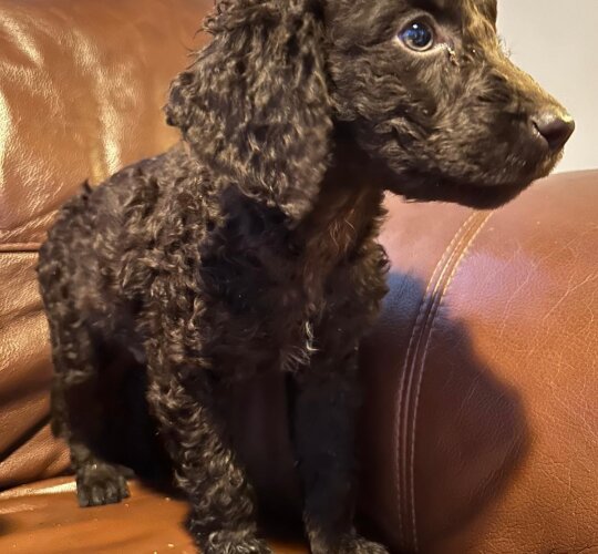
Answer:
[[150, 367], [148, 399], [190, 502], [187, 529], [202, 554], [270, 554], [256, 536], [254, 495], [217, 410], [224, 398], [204, 369]]

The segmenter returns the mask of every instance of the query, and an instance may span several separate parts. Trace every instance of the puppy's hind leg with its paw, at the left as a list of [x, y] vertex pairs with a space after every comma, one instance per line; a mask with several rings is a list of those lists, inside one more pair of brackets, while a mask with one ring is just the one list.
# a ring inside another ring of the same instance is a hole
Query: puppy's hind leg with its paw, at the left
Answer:
[[90, 443], [102, 433], [99, 366], [92, 335], [81, 321], [55, 321], [50, 312], [54, 378], [52, 429], [69, 443], [81, 506], [113, 504], [128, 496], [125, 470], [97, 456]]

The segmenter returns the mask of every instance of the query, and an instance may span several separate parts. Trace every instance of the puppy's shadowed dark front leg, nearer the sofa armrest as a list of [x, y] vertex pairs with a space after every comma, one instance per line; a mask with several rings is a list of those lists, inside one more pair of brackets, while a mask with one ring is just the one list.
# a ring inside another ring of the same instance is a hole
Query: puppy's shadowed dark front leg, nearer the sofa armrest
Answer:
[[295, 442], [312, 554], [383, 554], [353, 530], [357, 347], [318, 352], [296, 378]]

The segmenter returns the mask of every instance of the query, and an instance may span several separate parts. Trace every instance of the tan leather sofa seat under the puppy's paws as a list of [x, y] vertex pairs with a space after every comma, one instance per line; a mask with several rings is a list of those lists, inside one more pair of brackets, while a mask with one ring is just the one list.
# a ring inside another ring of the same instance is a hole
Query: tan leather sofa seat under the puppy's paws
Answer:
[[[0, 493], [0, 552], [192, 554], [185, 504], [132, 484], [123, 504], [80, 509], [74, 483], [54, 479]], [[275, 554], [307, 554], [300, 540], [269, 541]]]

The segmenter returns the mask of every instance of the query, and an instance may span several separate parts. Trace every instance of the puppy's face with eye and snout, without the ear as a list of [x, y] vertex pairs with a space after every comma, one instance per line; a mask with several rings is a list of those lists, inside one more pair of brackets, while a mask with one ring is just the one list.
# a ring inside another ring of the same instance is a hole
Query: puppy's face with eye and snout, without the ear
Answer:
[[501, 204], [545, 176], [574, 122], [516, 68], [496, 0], [330, 0], [338, 116], [415, 199]]

